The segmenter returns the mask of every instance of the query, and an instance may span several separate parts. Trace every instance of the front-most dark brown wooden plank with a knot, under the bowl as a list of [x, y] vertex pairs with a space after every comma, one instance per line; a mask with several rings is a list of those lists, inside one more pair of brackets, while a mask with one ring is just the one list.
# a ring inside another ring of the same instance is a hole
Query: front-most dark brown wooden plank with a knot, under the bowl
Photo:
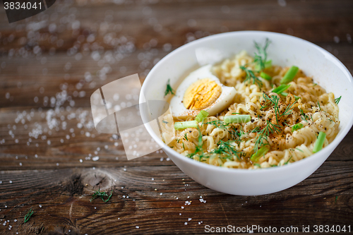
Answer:
[[[2, 171], [0, 177], [0, 222], [10, 220], [6, 227], [11, 224], [25, 234], [34, 234], [43, 226], [43, 232], [71, 229], [77, 234], [189, 234], [201, 233], [205, 224], [301, 227], [343, 225], [353, 219], [349, 207], [352, 161], [325, 162], [297, 186], [247, 197], [211, 191], [174, 166]], [[114, 189], [109, 202], [96, 199], [90, 203], [90, 195], [98, 188]], [[201, 196], [206, 203], [200, 201]], [[35, 215], [23, 224], [30, 207]]]

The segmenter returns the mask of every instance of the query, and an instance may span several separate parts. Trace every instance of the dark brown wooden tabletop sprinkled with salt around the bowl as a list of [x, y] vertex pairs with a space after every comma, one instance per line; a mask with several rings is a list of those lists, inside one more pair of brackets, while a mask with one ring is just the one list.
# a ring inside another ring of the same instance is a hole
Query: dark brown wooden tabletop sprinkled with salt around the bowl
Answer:
[[[199, 185], [163, 152], [128, 161], [119, 135], [92, 126], [97, 88], [133, 73], [143, 81], [172, 49], [237, 30], [301, 37], [353, 71], [351, 0], [56, 0], [11, 24], [1, 6], [0, 233], [199, 234], [228, 224], [352, 230], [352, 131], [296, 186], [235, 196]], [[107, 203], [90, 203], [98, 188], [113, 190]]]

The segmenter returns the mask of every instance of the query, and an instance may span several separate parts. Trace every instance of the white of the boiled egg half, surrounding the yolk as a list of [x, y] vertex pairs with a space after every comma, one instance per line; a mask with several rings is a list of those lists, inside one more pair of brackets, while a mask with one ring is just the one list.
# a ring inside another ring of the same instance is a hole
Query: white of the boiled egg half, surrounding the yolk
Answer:
[[230, 104], [232, 104], [234, 96], [236, 94], [235, 88], [227, 87], [220, 83], [220, 79], [211, 73], [212, 65], [208, 64], [198, 68], [196, 71], [193, 71], [187, 76], [179, 85], [177, 91], [175, 92], [174, 97], [170, 100], [170, 107], [172, 109], [172, 114], [176, 118], [186, 118], [188, 116], [196, 116], [200, 110], [190, 110], [186, 109], [183, 104], [184, 93], [186, 89], [192, 83], [195, 83], [197, 80], [203, 78], [209, 78], [214, 80], [222, 88], [222, 93], [220, 97], [217, 98], [213, 104], [210, 104], [208, 107], [205, 107], [205, 111], [208, 112], [209, 116], [215, 116], [215, 114], [221, 112], [223, 109], [226, 109]]

